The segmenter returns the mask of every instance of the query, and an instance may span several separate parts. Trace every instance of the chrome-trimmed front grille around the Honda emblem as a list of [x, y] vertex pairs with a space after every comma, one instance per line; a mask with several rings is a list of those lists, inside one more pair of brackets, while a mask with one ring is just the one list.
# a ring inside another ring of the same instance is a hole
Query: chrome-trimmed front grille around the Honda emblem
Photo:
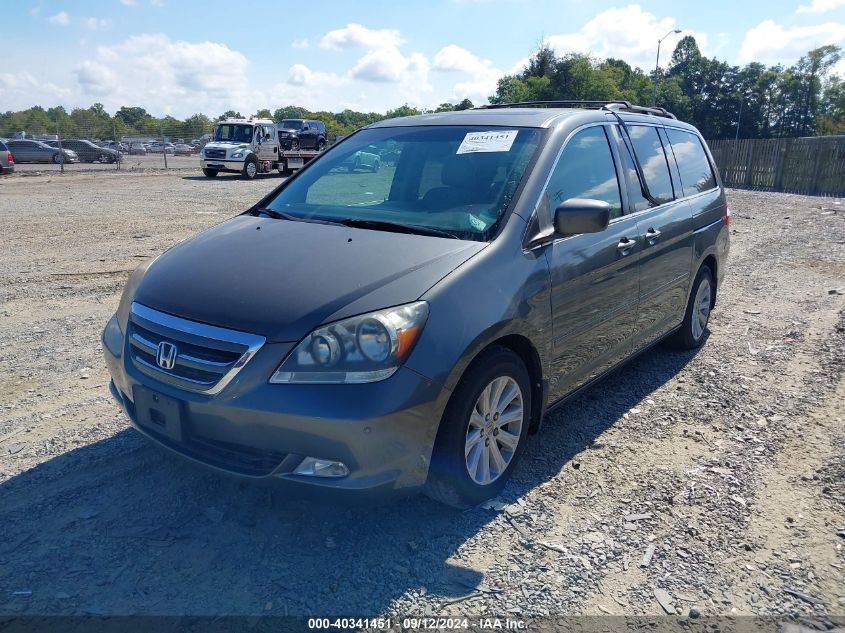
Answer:
[[[188, 321], [138, 303], [132, 304], [127, 340], [129, 357], [139, 371], [209, 394], [231, 382], [265, 341], [262, 336]], [[160, 362], [162, 343], [176, 347], [171, 363]]]

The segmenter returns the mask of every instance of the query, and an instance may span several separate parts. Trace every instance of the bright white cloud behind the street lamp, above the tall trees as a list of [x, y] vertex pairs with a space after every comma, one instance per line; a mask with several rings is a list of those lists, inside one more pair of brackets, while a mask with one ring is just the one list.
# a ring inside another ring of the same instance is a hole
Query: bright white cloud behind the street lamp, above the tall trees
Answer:
[[[638, 4], [608, 9], [598, 13], [581, 30], [573, 33], [551, 35], [548, 44], [558, 55], [583, 53], [599, 58], [623, 59], [632, 66], [652, 68], [657, 52], [657, 40], [669, 31], [683, 28], [675, 18], [658, 18], [644, 11]], [[692, 35], [700, 49], [707, 47], [707, 35], [683, 29], [679, 35], [669, 35], [661, 45], [661, 66], [668, 64], [672, 49], [685, 35]]]

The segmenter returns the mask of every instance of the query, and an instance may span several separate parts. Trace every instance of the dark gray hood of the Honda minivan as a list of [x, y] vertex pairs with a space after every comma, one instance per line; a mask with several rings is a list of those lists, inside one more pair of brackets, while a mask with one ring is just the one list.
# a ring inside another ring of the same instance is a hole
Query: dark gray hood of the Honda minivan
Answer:
[[165, 252], [135, 301], [298, 341], [322, 323], [415, 301], [485, 246], [242, 215]]

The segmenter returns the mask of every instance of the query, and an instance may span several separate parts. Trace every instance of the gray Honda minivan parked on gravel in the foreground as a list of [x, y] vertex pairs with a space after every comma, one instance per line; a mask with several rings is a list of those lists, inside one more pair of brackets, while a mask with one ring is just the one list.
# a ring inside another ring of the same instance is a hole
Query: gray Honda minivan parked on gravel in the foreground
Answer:
[[102, 337], [133, 426], [251, 480], [467, 507], [549, 407], [701, 345], [730, 214], [696, 129], [516, 106], [373, 124], [138, 268]]

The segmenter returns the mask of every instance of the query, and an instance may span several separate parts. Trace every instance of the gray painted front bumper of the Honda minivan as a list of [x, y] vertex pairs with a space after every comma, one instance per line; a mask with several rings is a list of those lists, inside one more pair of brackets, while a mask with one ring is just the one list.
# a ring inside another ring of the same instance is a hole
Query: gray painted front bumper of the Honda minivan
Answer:
[[[132, 425], [182, 457], [251, 481], [346, 496], [386, 496], [425, 484], [447, 392], [410, 369], [370, 384], [270, 384], [293, 344], [267, 343], [230, 384], [209, 396], [140, 372], [116, 319], [106, 326], [102, 343], [112, 395]], [[178, 400], [178, 439], [139, 422], [138, 386]], [[293, 474], [306, 456], [342, 461], [349, 475]]]

